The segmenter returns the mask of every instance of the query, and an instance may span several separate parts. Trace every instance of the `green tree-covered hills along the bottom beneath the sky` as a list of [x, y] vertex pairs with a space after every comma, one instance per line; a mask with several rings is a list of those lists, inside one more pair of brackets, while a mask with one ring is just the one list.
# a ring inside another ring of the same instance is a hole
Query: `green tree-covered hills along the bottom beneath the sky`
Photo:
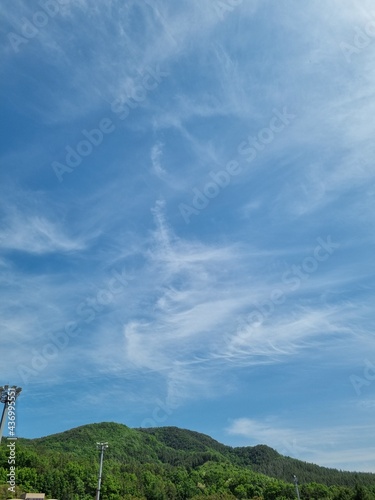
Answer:
[[[17, 442], [17, 495], [43, 491], [59, 500], [95, 498], [98, 452], [107, 441], [103, 500], [375, 499], [375, 474], [319, 467], [258, 445], [231, 448], [176, 427], [130, 429], [90, 424], [61, 434]], [[0, 500], [7, 491], [8, 451], [0, 448]]]

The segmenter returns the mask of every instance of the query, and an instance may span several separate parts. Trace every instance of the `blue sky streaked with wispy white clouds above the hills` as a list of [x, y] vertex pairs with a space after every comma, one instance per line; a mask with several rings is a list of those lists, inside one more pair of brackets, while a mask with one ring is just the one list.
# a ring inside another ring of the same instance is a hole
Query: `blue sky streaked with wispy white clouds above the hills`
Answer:
[[14, 0], [18, 435], [175, 425], [375, 472], [370, 0]]

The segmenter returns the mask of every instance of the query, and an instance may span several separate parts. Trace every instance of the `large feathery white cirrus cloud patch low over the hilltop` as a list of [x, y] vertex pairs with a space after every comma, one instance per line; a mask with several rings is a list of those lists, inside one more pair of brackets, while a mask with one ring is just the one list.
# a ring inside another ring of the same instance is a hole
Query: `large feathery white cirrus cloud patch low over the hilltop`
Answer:
[[[179, 237], [167, 222], [165, 209], [159, 201], [152, 211], [156, 228], [144, 266], [131, 285], [133, 317], [117, 315], [113, 341], [97, 335], [100, 355], [93, 352], [92, 361], [101, 370], [110, 373], [115, 367], [117, 372], [124, 366], [126, 373], [159, 373], [164, 390], [170, 392], [168, 388], [173, 387], [181, 401], [193, 393], [198, 397], [198, 387], [212, 394], [225, 371], [277, 365], [322, 346], [330, 356], [358, 345], [355, 304], [333, 306], [323, 297], [321, 303], [311, 304], [317, 291], [338, 289], [352, 276], [330, 275], [322, 269], [320, 276], [317, 272], [301, 284], [298, 295], [303, 299], [295, 303], [296, 292], [286, 289], [285, 304], [270, 311], [265, 304], [280, 286], [282, 271], [264, 280], [258, 267], [267, 252]], [[301, 251], [306, 252], [299, 249], [296, 255]], [[141, 312], [146, 304], [147, 317]], [[243, 324], [243, 318], [262, 305], [267, 313], [260, 324]], [[365, 331], [363, 335], [366, 338]], [[103, 352], [107, 353], [104, 357]], [[112, 359], [112, 364], [106, 359]], [[198, 373], [204, 376], [197, 386]]]

